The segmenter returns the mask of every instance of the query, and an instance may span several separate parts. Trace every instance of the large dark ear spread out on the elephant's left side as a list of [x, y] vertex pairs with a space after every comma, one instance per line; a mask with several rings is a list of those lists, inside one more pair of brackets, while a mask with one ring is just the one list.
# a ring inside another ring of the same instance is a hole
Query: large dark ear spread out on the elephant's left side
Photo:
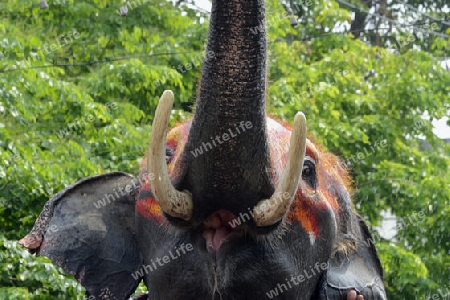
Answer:
[[80, 180], [45, 204], [19, 244], [74, 275], [95, 299], [127, 299], [143, 261], [135, 236], [138, 190], [139, 180], [122, 172]]

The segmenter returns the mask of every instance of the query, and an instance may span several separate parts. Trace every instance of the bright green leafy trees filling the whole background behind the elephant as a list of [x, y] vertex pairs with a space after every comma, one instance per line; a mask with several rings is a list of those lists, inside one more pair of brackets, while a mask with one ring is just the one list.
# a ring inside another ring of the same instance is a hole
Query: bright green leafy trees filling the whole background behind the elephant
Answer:
[[[395, 237], [373, 241], [389, 299], [450, 289], [450, 147], [432, 131], [450, 110], [450, 8], [438, 2], [266, 1], [268, 112], [285, 123], [305, 113], [351, 169], [372, 227], [396, 216]], [[16, 241], [64, 187], [137, 174], [162, 92], [174, 91], [173, 125], [192, 115], [207, 38], [208, 13], [183, 1], [44, 4], [0, 3], [2, 299], [83, 298]]]

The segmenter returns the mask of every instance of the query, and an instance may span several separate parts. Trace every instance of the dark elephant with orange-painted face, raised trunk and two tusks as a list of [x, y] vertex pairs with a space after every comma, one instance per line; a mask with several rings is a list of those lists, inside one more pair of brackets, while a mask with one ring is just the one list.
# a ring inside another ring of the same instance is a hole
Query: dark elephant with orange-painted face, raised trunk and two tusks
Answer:
[[[266, 115], [263, 0], [213, 0], [192, 120], [155, 112], [135, 177], [111, 172], [54, 195], [19, 243], [88, 299], [387, 299], [372, 236], [339, 159]], [[252, 30], [258, 27], [259, 30]]]

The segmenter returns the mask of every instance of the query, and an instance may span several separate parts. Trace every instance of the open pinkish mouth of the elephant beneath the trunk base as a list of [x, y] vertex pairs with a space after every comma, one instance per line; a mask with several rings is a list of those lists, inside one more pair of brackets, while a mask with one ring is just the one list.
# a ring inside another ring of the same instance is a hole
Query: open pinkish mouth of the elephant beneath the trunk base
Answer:
[[217, 252], [222, 244], [243, 236], [244, 231], [236, 216], [228, 210], [219, 210], [210, 215], [204, 222], [203, 238], [208, 250]]

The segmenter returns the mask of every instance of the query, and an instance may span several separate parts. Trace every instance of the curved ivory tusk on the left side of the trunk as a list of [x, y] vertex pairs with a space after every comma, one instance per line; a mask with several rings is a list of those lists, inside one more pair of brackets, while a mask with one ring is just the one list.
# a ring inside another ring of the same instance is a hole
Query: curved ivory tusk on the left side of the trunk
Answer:
[[192, 217], [193, 202], [189, 192], [180, 192], [170, 181], [166, 165], [166, 135], [173, 93], [166, 90], [159, 100], [153, 120], [147, 170], [152, 193], [161, 209], [168, 215], [189, 220]]

